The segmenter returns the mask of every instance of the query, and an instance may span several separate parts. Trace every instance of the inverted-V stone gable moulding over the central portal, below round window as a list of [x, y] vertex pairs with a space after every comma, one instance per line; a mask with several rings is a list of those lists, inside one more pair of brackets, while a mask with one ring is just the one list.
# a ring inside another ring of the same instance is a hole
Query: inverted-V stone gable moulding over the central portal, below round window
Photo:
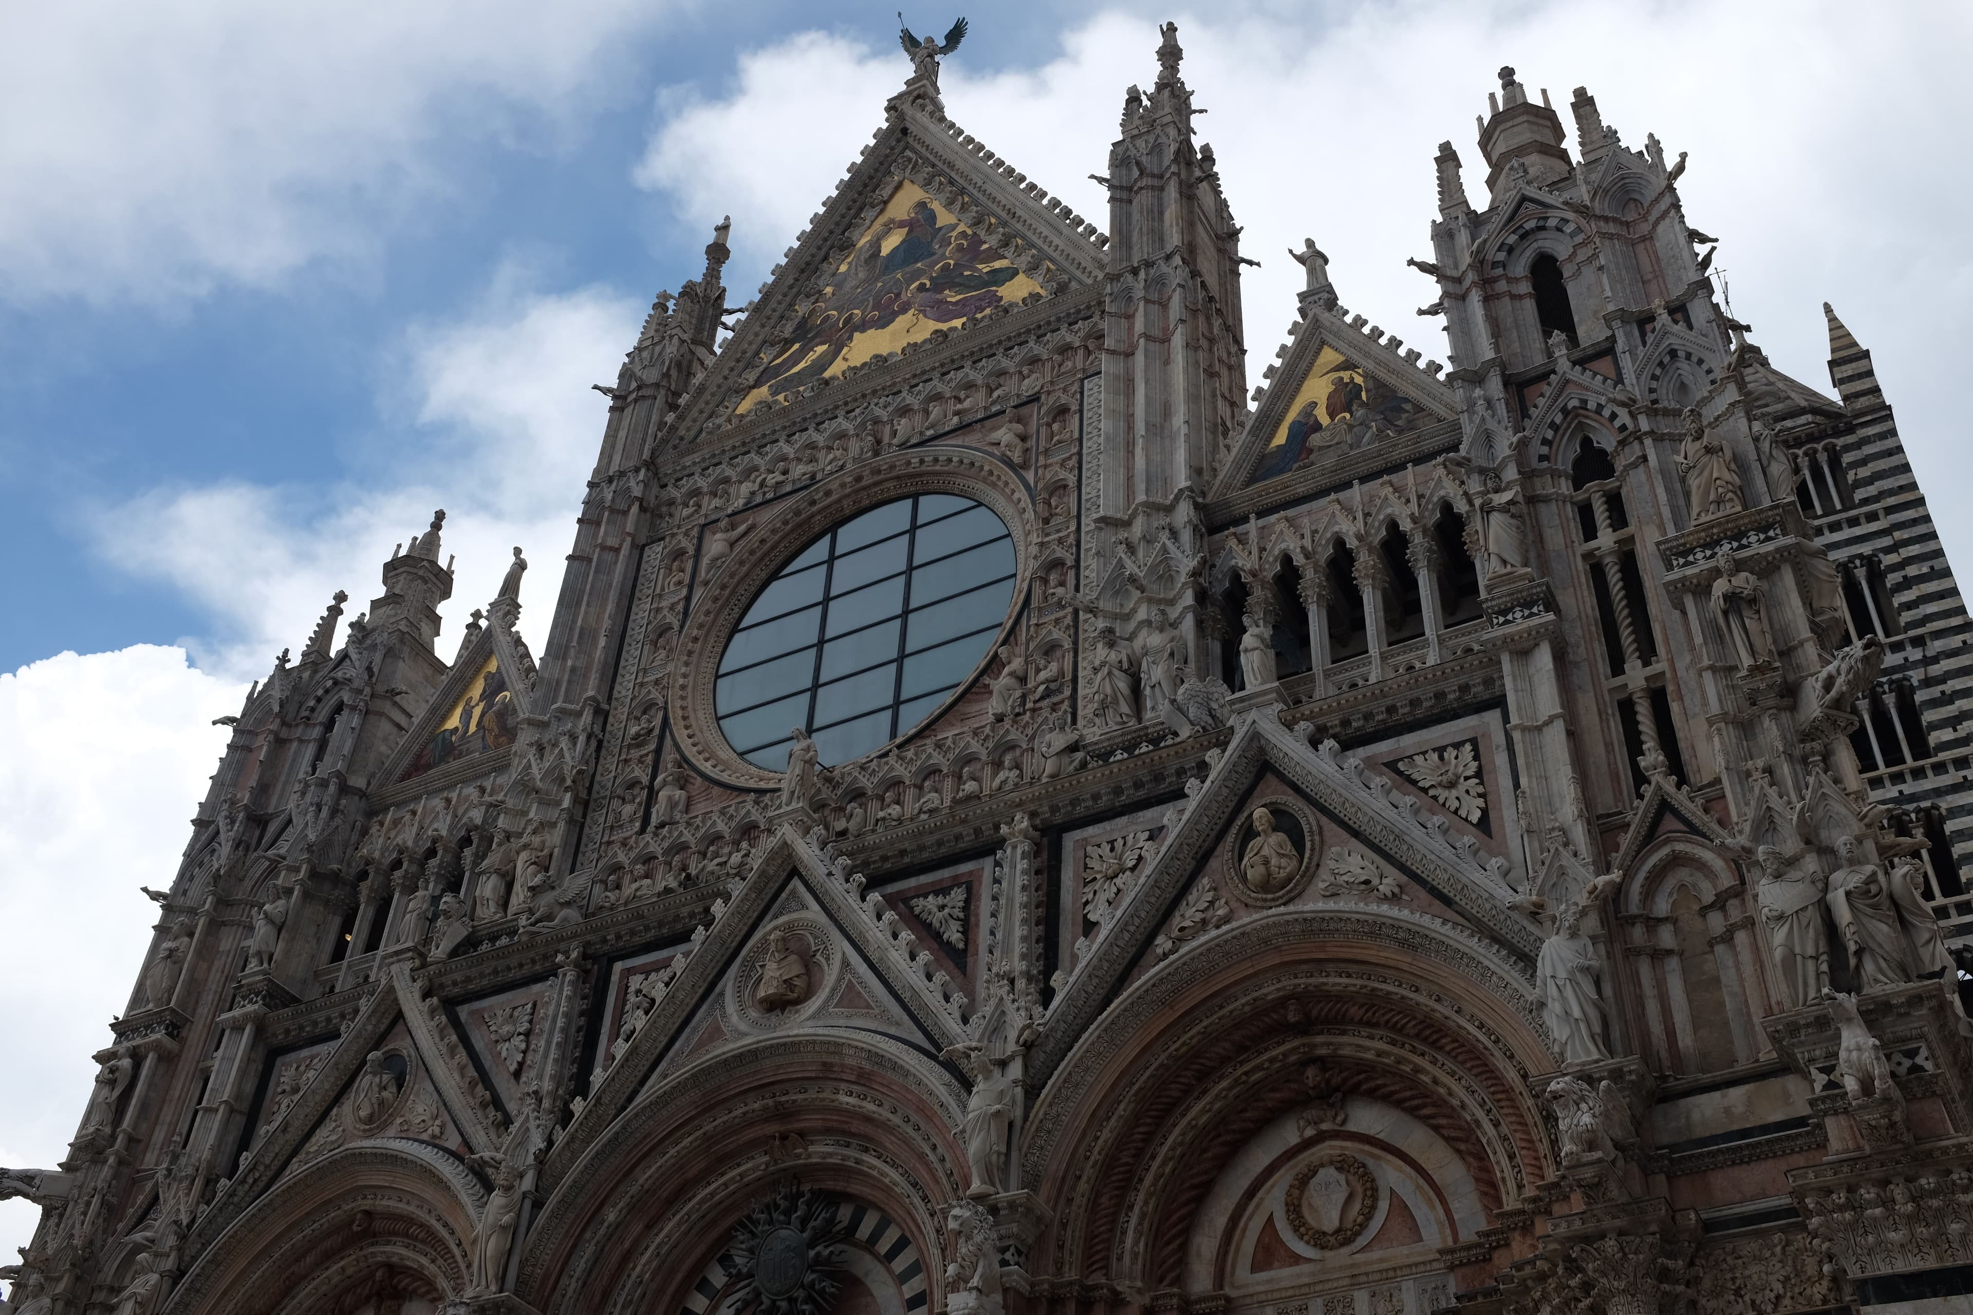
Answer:
[[862, 877], [848, 871], [787, 822], [762, 848], [752, 871], [740, 881], [732, 901], [714, 905], [710, 931], [694, 934], [694, 948], [675, 972], [665, 994], [651, 1007], [629, 1045], [610, 1065], [588, 1100], [554, 1143], [543, 1175], [560, 1179], [594, 1145], [649, 1084], [665, 1057], [691, 1045], [691, 1023], [704, 1017], [704, 1005], [722, 992], [742, 954], [756, 948], [762, 931], [775, 921], [791, 885], [799, 883], [801, 903], [827, 919], [844, 954], [868, 966], [872, 986], [888, 992], [898, 1009], [925, 1037], [925, 1049], [939, 1053], [965, 1041], [965, 994], [949, 974], [931, 968], [931, 954], [900, 919], [884, 907], [882, 895], [862, 895]]

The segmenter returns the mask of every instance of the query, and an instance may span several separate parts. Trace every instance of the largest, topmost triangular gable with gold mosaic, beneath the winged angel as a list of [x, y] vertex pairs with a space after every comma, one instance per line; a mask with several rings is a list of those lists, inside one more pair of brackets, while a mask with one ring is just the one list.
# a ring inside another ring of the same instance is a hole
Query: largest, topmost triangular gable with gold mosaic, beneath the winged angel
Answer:
[[1095, 225], [921, 103], [884, 128], [762, 286], [679, 434], [1103, 278]]

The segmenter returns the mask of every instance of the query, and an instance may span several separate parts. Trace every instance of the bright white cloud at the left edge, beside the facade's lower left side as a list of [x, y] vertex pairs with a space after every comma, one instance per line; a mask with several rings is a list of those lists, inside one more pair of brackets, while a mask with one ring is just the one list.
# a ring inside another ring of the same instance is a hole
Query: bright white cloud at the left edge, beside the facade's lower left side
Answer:
[[[0, 672], [0, 1163], [67, 1153], [158, 917], [136, 887], [172, 883], [243, 696], [152, 645]], [[0, 1203], [0, 1256], [37, 1216]]]

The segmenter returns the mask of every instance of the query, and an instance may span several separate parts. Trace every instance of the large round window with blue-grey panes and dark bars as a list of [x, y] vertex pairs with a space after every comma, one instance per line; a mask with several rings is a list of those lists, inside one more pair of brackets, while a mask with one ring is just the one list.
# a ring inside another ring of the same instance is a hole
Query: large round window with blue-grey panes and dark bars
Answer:
[[712, 706], [744, 759], [787, 767], [795, 727], [848, 763], [931, 716], [979, 666], [1014, 601], [1014, 540], [943, 493], [844, 520], [783, 566], [740, 617]]

